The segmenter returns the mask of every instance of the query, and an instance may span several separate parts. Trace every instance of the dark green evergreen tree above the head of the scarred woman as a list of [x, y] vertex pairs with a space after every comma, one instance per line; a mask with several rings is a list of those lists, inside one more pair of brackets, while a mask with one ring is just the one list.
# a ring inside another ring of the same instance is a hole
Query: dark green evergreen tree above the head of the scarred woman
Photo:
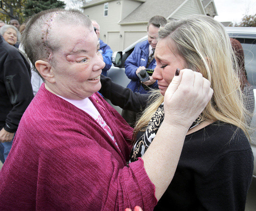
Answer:
[[65, 8], [65, 3], [58, 0], [27, 0], [24, 8], [24, 15], [31, 16], [43, 10], [52, 8]]

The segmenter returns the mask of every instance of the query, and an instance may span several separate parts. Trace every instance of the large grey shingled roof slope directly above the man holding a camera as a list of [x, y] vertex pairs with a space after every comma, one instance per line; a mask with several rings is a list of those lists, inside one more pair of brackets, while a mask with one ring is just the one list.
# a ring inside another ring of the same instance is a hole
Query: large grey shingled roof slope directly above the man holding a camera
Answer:
[[156, 0], [147, 0], [121, 20], [119, 24], [123, 25], [134, 22], [147, 23], [151, 17], [156, 15], [161, 15], [164, 18], [167, 18], [184, 1], [186, 0], [157, 0], [156, 4]]

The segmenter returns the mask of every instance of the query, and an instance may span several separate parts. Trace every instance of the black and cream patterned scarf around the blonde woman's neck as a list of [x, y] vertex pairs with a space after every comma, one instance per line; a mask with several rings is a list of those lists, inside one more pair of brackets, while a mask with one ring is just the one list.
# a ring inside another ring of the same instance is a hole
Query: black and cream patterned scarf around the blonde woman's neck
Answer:
[[[189, 129], [198, 125], [201, 118], [202, 117], [199, 116]], [[132, 152], [130, 154], [130, 161], [127, 164], [137, 161], [139, 157], [142, 157], [142, 155], [146, 152], [149, 145], [155, 138], [156, 132], [158, 131], [158, 128], [162, 124], [163, 120], [164, 120], [164, 103], [162, 103], [156, 109], [155, 114], [153, 115], [153, 117], [150, 119], [148, 123], [146, 131], [139, 138], [139, 140], [135, 142], [132, 148]]]

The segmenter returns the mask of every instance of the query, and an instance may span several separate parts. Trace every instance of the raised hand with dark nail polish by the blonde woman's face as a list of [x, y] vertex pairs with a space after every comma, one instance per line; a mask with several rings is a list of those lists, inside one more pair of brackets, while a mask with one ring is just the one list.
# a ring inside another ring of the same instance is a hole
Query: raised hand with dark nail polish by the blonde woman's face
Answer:
[[213, 90], [199, 72], [183, 69], [164, 94], [164, 121], [187, 129], [201, 114]]

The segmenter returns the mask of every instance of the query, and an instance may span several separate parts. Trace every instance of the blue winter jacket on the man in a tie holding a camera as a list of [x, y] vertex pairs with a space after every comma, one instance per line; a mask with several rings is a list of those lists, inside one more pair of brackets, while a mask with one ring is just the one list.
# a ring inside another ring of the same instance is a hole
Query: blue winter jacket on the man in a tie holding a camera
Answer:
[[[140, 66], [146, 67], [148, 64], [148, 40], [138, 43], [130, 56], [126, 59], [125, 66], [125, 74], [129, 79], [131, 79], [130, 83], [127, 85], [127, 88], [132, 89], [133, 92], [139, 92], [141, 94], [146, 94], [147, 91], [142, 87], [139, 77], [136, 74], [136, 70]], [[149, 64], [148, 68], [155, 69], [156, 60], [153, 59]], [[157, 81], [150, 86], [151, 88], [158, 88]]]

